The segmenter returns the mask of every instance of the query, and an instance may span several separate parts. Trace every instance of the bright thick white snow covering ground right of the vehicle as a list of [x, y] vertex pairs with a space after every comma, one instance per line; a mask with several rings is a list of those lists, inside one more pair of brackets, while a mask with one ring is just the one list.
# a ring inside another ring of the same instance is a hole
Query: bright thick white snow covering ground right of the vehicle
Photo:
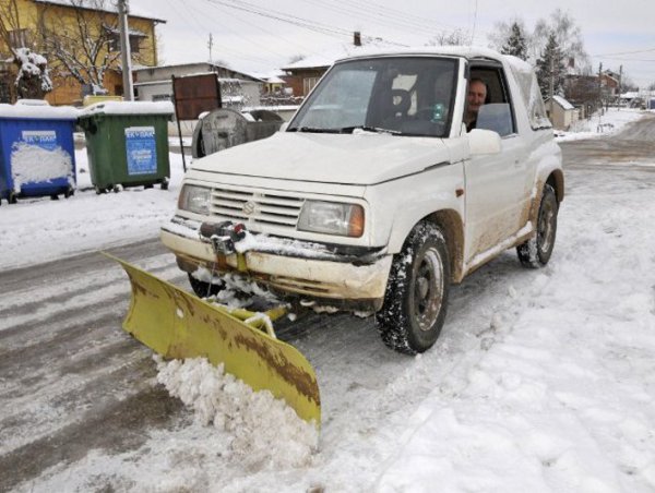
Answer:
[[607, 180], [574, 184], [551, 265], [416, 410], [380, 491], [655, 491], [655, 188]]

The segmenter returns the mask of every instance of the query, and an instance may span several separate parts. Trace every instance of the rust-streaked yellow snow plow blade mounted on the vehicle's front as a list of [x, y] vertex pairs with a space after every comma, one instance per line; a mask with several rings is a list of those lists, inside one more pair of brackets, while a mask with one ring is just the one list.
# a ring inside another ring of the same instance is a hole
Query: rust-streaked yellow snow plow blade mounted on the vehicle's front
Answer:
[[[211, 304], [104, 254], [122, 265], [132, 284], [130, 310], [123, 322], [128, 333], [165, 358], [200, 357], [215, 365], [223, 363], [226, 373], [253, 390], [270, 390], [301, 419], [320, 425], [321, 402], [313, 368], [296, 348], [262, 332], [265, 317]], [[284, 311], [265, 314], [275, 318]]]

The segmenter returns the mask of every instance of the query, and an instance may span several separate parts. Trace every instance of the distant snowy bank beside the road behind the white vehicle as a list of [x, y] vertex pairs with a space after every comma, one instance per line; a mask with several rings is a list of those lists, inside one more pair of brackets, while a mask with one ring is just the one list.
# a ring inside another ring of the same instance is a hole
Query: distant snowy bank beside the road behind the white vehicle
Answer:
[[646, 111], [634, 108], [608, 108], [595, 112], [588, 119], [577, 120], [568, 131], [556, 130], [557, 142], [596, 139], [611, 135], [633, 121], [642, 118]]

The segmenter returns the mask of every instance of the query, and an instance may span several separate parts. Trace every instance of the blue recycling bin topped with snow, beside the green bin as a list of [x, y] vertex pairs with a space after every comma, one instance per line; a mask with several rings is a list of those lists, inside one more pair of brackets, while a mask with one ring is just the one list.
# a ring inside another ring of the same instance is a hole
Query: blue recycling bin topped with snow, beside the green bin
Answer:
[[78, 110], [45, 101], [0, 105], [0, 203], [75, 191]]

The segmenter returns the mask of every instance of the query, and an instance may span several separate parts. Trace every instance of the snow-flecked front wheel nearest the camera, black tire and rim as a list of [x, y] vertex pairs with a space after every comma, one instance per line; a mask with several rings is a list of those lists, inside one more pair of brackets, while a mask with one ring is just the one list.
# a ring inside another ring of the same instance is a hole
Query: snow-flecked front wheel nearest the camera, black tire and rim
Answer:
[[441, 230], [430, 223], [414, 227], [394, 255], [384, 304], [376, 314], [382, 341], [398, 352], [430, 349], [445, 320], [450, 256]]

